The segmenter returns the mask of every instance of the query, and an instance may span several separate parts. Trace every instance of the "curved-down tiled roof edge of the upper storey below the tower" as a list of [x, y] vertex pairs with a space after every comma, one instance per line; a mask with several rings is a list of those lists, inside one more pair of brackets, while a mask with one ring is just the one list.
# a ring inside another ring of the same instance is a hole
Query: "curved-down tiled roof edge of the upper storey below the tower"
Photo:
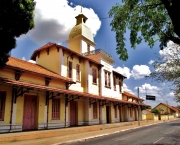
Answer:
[[94, 62], [94, 63], [96, 63], [96, 64], [98, 64], [98, 65], [103, 66], [102, 64], [100, 64], [99, 62], [97, 62], [97, 61], [95, 61], [95, 60], [93, 60], [93, 59], [91, 59], [91, 58], [88, 58], [88, 57], [86, 57], [86, 56], [83, 56], [83, 55], [81, 55], [81, 54], [79, 54], [79, 53], [71, 50], [71, 49], [68, 49], [68, 48], [66, 48], [66, 47], [64, 47], [64, 46], [58, 45], [58, 44], [56, 44], [56, 43], [51, 43], [51, 42], [43, 45], [42, 47], [40, 47], [40, 48], [38, 48], [38, 49], [36, 49], [36, 50], [33, 52], [33, 54], [31, 55], [31, 59], [32, 59], [32, 60], [35, 60], [38, 52], [40, 52], [40, 51], [42, 51], [42, 50], [46, 50], [47, 48], [49, 48], [49, 47], [51, 47], [51, 46], [56, 46], [57, 48], [61, 48], [61, 49], [65, 50], [65, 51], [69, 51], [70, 53], [73, 53], [73, 54], [75, 54], [75, 55], [77, 55], [77, 56], [79, 56], [79, 57], [81, 57], [81, 58], [87, 59], [87, 60], [89, 60], [89, 61], [91, 61], [91, 62]]

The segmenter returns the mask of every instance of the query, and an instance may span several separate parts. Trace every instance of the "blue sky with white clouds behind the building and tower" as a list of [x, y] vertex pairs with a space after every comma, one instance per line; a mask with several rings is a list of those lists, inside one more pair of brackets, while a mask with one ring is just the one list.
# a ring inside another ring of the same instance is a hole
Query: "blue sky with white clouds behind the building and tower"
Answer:
[[[75, 25], [75, 16], [80, 13], [81, 0], [36, 0], [35, 28], [27, 34], [17, 38], [17, 47], [11, 52], [13, 57], [30, 59], [33, 51], [40, 46], [55, 42], [67, 46], [66, 40], [71, 28]], [[177, 106], [173, 99], [173, 93], [166, 83], [156, 83], [144, 79], [152, 71], [149, 63], [159, 55], [158, 43], [151, 49], [147, 43], [141, 43], [136, 50], [130, 47], [126, 35], [126, 48], [128, 48], [129, 59], [119, 60], [116, 54], [115, 33], [111, 31], [108, 12], [117, 0], [83, 0], [83, 13], [88, 17], [87, 25], [94, 34], [96, 48], [101, 48], [112, 55], [115, 60], [114, 68], [121, 74], [127, 76], [124, 81], [124, 89], [137, 95], [137, 87], [140, 88], [140, 97], [145, 95], [156, 96], [156, 101], [145, 101], [145, 103], [156, 106], [160, 102]]]

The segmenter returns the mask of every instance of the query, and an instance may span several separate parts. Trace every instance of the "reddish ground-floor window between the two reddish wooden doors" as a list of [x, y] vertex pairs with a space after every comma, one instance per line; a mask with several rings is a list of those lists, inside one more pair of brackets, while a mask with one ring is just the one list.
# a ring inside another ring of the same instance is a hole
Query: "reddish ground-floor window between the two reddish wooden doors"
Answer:
[[60, 119], [60, 98], [52, 99], [52, 119], [53, 120]]

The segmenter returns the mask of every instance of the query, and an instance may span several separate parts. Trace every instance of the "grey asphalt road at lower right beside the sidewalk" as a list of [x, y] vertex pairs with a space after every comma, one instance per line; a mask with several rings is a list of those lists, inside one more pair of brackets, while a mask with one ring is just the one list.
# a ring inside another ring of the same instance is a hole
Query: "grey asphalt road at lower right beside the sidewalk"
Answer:
[[73, 145], [180, 145], [180, 121], [164, 122]]

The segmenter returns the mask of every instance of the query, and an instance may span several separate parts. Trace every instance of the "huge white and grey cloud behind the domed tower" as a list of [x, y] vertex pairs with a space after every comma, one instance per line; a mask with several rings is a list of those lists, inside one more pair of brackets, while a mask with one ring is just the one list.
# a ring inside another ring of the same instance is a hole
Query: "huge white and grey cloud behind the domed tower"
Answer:
[[[47, 42], [66, 41], [70, 30], [76, 24], [75, 16], [81, 12], [81, 6], [72, 6], [73, 3], [68, 5], [67, 0], [36, 0], [35, 28], [30, 30], [26, 37], [29, 36], [41, 45]], [[86, 25], [93, 35], [96, 35], [101, 26], [97, 14], [91, 8], [83, 8], [83, 14], [89, 18]], [[23, 37], [21, 36], [20, 39]]]

